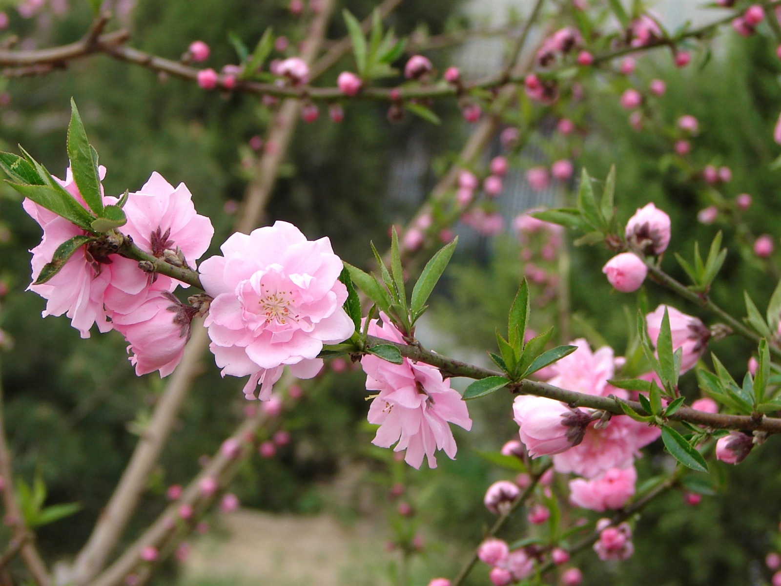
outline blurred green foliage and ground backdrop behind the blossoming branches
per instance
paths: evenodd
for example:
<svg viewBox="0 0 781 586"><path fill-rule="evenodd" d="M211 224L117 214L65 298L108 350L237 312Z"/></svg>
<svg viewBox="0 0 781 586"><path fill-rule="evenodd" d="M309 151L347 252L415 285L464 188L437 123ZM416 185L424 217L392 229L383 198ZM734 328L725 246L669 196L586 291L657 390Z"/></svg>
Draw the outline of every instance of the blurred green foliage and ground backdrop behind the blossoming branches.
<svg viewBox="0 0 781 586"><path fill-rule="evenodd" d="M10 17L0 39L12 32L25 48L75 41L91 20L86 0L50 0L28 18L20 15L17 4L0 0L0 10ZM277 56L294 54L301 27L288 4L119 0L114 26L130 29L131 46L169 59L178 59L191 41L200 39L212 48L209 64L219 68L237 60L229 31L253 46L272 25L291 45ZM659 2L657 9L665 25L674 29L687 19L707 21L712 11L701 9L701 4ZM367 0L340 2L358 18L374 5ZM529 5L406 0L387 23L400 35L414 33L421 39L465 27L506 25L517 30ZM327 38L345 33L337 17ZM437 70L455 63L469 79L497 70L505 45L501 38L478 39L426 55ZM620 219L654 202L672 217L671 249L685 258L691 257L696 241L707 247L716 232L724 230L730 252L713 298L737 316L744 313L743 289L751 291L755 301L766 302L781 273L773 257L755 259L751 245L758 234L776 239L781 235L781 177L771 166L779 154L772 127L781 109L781 63L772 41L762 35L742 38L725 30L715 45L718 50L712 54L694 47L695 59L685 69L672 65L669 52L654 52L637 59L631 76L584 76L579 80L580 99L565 99L544 111L529 105L526 109L532 113L525 112L525 106L508 113L507 124L519 128L524 146L512 154L505 189L495 203L505 230L487 237L464 224L456 227L461 241L430 302L420 332L424 345L487 362L485 351L494 349L494 327L504 323L519 280L530 273L520 255L522 245L512 233L512 219L526 209L571 197L567 182L535 191L526 182L526 170L558 159L572 159L576 176L586 166L598 178L615 163ZM351 57L344 58L322 84L333 85L337 73L353 68ZM647 93L654 78L665 80L667 92L648 99L644 123L651 131L638 131L619 105L619 95L630 86ZM153 170L171 184L186 183L199 213L210 216L216 227L209 254L217 252L230 233L235 202L241 200L258 156L251 138L263 135L270 116L250 95L205 92L191 82L159 77L105 56L82 59L41 77L0 77L0 93L5 96L0 105L3 150L15 151L21 144L62 176L73 96L107 167L106 193L137 190ZM473 129L453 101L434 106L443 120L439 126L410 116L389 123L385 109L357 101L345 106L342 123L321 114L315 123L300 124L265 223L288 220L308 238L327 235L343 259L368 267L369 241L380 250L387 248L388 228L408 222ZM686 158L673 149L676 120L684 114L696 116L700 127ZM576 134L564 138L555 131L562 118L576 124ZM500 152L497 139L485 163ZM708 164L729 167L731 180L718 189L704 184L698 173ZM754 203L736 216L729 202L740 193L750 194ZM698 222L697 213L709 205L716 205L719 215L712 223ZM65 318L41 320L44 300L25 292L30 277L27 251L39 238L39 228L23 213L15 193L0 187L0 327L12 340L2 363L7 426L20 477L28 483L41 478L47 502L80 504L76 514L41 527L39 534L49 559L67 559L74 544L86 540L116 485L164 381L156 374L135 377L116 332L80 340ZM620 356L637 311L635 296L608 292L601 274L608 251L567 245L565 254L571 267L569 310L558 318L561 306L555 291L551 293L550 283L541 283L533 288L534 295L547 303L535 309L534 327L555 324L559 334L585 337L594 348L612 345ZM685 279L674 259L665 259L665 268ZM653 285L647 285L645 295L651 309L672 302ZM697 314L695 308L675 305ZM711 325L708 316L700 316ZM752 349L733 338L711 346L736 378L743 376ZM241 417L243 381L223 380L216 367L205 366L150 479L128 540L166 506L166 488L197 473L201 456L213 453ZM255 456L237 477L232 490L241 509L210 517L209 531L190 541L187 559L168 563L153 583L398 584L402 567L409 584L452 575L493 522L482 504L488 484L512 477L479 452L498 451L517 434L510 417L512 397L497 393L470 403L475 423L469 434L455 430L458 459L451 462L443 456L437 470L415 471L396 461L390 450L370 444L373 428L366 423L364 385L361 371L344 361L326 366L316 380L307 382L301 402L278 422L277 429L291 435L290 443L280 445L273 457ZM699 395L693 374L684 377L682 386L686 394ZM669 466L658 446L647 452L640 478ZM762 560L778 547L779 458L781 447L769 441L746 466L726 470L715 465L715 490L699 506L686 506L682 491L654 502L637 523L635 556L610 565L585 552L578 561L584 583L764 584L768 576ZM403 487L401 495L394 486ZM508 530L510 541L522 538L526 529L519 520ZM478 568L469 581L486 583L487 567Z"/></svg>

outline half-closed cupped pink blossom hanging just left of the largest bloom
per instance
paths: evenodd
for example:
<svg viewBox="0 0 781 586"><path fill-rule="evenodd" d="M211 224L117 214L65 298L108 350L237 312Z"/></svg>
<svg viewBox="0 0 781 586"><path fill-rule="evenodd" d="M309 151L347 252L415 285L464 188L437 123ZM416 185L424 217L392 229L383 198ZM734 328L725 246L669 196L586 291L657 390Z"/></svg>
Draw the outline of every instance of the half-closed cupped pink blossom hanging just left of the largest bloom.
<svg viewBox="0 0 781 586"><path fill-rule="evenodd" d="M184 356L196 310L182 305L168 291L150 291L139 297L145 297L141 306L112 315L114 328L130 344L130 363L137 376L159 370L161 377L167 377Z"/></svg>

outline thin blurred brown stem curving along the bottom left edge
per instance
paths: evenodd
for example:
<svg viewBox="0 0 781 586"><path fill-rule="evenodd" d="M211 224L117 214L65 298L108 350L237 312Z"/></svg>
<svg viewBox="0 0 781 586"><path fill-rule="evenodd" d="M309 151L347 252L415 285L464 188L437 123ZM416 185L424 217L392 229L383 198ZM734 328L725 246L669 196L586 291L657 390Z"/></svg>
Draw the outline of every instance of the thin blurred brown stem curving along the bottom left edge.
<svg viewBox="0 0 781 586"><path fill-rule="evenodd" d="M5 487L2 489L2 502L5 506L5 514L10 520L10 526L13 530L14 539L19 544L20 554L24 565L30 572L38 586L48 586L51 584L51 578L48 575L46 565L41 559L41 554L33 542L33 534L24 522L24 516L20 509L19 502L16 501L16 490L13 481L13 467L11 463L11 450L8 447L8 441L5 435L5 408L3 406L2 394L2 371L0 371L0 476L5 481Z"/></svg>

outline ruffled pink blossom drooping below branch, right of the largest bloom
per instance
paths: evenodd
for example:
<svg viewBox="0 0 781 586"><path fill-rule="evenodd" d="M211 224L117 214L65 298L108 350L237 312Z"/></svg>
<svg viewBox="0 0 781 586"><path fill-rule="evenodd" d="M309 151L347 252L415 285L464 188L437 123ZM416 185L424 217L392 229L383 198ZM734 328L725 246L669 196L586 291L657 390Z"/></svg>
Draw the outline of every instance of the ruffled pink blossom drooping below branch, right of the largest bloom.
<svg viewBox="0 0 781 586"><path fill-rule="evenodd" d="M383 325L369 323L369 334L404 343L401 333L387 318ZM406 450L405 462L414 468L428 459L429 467L437 466L434 452L442 449L455 458L456 445L448 423L465 430L472 420L458 391L450 388L450 380L433 366L404 359L401 364L389 363L367 354L361 359L366 372L366 389L380 391L369 407L369 423L380 425L372 443L395 452Z"/></svg>

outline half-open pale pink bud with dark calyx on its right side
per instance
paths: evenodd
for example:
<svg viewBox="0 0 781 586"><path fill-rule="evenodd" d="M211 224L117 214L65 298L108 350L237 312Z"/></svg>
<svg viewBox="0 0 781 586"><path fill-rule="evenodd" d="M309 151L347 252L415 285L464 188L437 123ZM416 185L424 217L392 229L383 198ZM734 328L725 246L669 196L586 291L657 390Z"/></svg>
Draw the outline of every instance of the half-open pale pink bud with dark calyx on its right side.
<svg viewBox="0 0 781 586"><path fill-rule="evenodd" d="M562 402L533 395L519 395L512 405L523 445L533 458L569 450L583 441L590 416Z"/></svg>

